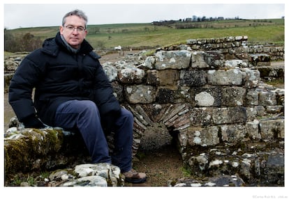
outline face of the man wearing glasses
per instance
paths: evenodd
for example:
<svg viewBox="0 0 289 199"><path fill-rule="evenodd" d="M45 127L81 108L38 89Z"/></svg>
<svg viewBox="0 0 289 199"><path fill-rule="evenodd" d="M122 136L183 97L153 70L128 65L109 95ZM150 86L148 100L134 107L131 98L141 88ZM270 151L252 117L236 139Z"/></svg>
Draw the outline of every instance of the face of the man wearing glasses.
<svg viewBox="0 0 289 199"><path fill-rule="evenodd" d="M59 28L60 34L71 47L77 49L87 35L84 19L75 15L66 17L66 23Z"/></svg>

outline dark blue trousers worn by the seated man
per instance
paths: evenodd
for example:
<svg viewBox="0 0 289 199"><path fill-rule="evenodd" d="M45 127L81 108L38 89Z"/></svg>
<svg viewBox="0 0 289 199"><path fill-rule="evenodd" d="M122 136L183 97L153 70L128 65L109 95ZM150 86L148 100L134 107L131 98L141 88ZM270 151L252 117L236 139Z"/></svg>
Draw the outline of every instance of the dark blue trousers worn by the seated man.
<svg viewBox="0 0 289 199"><path fill-rule="evenodd" d="M101 116L94 102L71 100L57 108L54 124L64 129L77 127L87 145L92 163L111 163L124 173L131 170L133 145L133 114L121 109L113 125L114 150L110 156L108 143L101 127Z"/></svg>

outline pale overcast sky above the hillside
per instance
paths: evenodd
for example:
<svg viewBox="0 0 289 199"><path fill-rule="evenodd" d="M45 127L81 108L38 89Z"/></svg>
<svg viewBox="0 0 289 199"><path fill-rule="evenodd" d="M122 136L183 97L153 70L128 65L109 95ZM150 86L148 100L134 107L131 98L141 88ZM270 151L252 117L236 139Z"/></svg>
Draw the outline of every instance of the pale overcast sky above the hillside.
<svg viewBox="0 0 289 199"><path fill-rule="evenodd" d="M85 0L84 0L85 1ZM186 3L186 1L165 1L170 3L156 4L151 1L135 1L144 3L111 3L108 4L82 3L59 4L50 3L12 3L10 0L3 3L3 26L6 29L36 26L60 26L62 17L71 10L78 8L88 16L88 24L119 24L119 23L149 23L160 20L184 19L192 17L239 17L242 19L273 19L285 16L285 3L220 3L214 1L206 4ZM25 1L27 2L27 1ZM80 2L80 1L78 1ZM242 1L244 2L244 1ZM245 1L246 2L246 1ZM21 4L22 3L22 4ZM241 3L241 2L240 2Z"/></svg>

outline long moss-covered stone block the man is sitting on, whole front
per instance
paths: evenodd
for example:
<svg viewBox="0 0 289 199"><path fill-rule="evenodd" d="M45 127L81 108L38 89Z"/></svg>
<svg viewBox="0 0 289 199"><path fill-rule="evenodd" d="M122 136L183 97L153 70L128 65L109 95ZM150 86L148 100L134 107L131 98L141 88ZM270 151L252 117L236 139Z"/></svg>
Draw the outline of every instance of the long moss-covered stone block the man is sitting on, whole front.
<svg viewBox="0 0 289 199"><path fill-rule="evenodd" d="M52 170L89 161L80 134L63 129L17 129L6 134L4 141L5 173L11 175L32 170Z"/></svg>

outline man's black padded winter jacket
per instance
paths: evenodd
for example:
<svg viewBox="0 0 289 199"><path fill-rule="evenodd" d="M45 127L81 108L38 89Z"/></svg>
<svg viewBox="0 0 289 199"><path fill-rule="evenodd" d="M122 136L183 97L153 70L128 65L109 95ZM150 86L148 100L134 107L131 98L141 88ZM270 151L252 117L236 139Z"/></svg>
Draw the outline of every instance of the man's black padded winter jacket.
<svg viewBox="0 0 289 199"><path fill-rule="evenodd" d="M10 81L9 102L20 122L36 115L54 126L59 104L68 100L91 100L101 116L114 115L120 106L112 92L98 56L84 40L73 54L57 33L43 42L43 47L23 59ZM31 93L35 88L34 102Z"/></svg>

